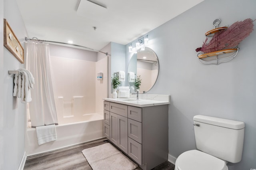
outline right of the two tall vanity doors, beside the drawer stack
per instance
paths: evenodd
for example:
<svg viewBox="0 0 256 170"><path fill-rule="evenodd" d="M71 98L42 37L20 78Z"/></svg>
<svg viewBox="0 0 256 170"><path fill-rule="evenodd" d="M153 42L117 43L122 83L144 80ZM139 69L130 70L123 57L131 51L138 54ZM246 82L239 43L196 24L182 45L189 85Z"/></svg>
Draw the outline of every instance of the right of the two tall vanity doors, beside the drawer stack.
<svg viewBox="0 0 256 170"><path fill-rule="evenodd" d="M128 153L128 118L118 115L118 148Z"/></svg>

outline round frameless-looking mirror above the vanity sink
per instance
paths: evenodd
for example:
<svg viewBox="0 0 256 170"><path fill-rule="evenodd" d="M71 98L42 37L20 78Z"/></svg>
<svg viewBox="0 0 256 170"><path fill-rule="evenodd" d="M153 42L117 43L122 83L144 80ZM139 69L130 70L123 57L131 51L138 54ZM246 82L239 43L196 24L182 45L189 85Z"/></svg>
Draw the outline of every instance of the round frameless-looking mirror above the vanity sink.
<svg viewBox="0 0 256 170"><path fill-rule="evenodd" d="M136 91L134 78L140 76L141 85L139 93L149 91L154 86L158 77L158 68L158 58L151 48L145 47L145 50L140 49L138 53L134 53L128 65L128 83L131 89Z"/></svg>

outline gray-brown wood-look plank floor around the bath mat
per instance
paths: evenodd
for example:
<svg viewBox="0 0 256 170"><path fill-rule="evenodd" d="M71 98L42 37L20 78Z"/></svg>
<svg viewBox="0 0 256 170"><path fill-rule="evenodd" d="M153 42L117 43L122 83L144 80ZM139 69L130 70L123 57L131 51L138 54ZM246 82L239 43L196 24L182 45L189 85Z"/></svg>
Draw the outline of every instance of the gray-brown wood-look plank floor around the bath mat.
<svg viewBox="0 0 256 170"><path fill-rule="evenodd" d="M106 138L86 142L51 152L28 156L24 170L92 170L82 150L107 143ZM122 167L120 167L120 170ZM141 168L136 168L141 170ZM154 170L174 170L174 165L164 162Z"/></svg>

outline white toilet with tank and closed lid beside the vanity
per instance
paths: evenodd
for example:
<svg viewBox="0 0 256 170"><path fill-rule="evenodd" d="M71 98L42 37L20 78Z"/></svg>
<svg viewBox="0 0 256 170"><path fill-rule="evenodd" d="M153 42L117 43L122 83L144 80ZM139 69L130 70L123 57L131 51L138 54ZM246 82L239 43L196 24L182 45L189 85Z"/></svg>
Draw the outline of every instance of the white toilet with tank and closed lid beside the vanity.
<svg viewBox="0 0 256 170"><path fill-rule="evenodd" d="M204 115L194 116L196 148L178 156L175 170L228 170L242 159L244 123Z"/></svg>

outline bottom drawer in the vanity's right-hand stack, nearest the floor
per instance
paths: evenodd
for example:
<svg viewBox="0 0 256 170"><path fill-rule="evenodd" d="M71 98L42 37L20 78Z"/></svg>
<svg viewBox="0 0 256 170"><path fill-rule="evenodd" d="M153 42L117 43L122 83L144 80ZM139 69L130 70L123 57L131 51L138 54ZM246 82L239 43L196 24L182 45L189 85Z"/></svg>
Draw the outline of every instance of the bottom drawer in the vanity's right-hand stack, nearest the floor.
<svg viewBox="0 0 256 170"><path fill-rule="evenodd" d="M142 165L142 144L128 138L128 155L139 165Z"/></svg>

